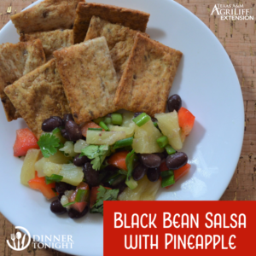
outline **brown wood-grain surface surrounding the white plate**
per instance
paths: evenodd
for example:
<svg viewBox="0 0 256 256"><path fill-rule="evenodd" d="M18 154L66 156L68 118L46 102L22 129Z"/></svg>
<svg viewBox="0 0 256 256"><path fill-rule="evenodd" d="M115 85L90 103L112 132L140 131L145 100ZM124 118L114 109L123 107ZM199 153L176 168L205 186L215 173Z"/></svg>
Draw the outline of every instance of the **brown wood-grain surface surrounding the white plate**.
<svg viewBox="0 0 256 256"><path fill-rule="evenodd" d="M31 3L33 3L32 0L0 0L0 28L9 21L10 15L20 12L21 9ZM236 69L245 108L245 133L236 172L221 200L254 201L256 200L255 1L177 0L177 3L181 3L186 9L189 9L211 29L219 42L223 44L228 55L230 55L230 60ZM244 8L250 9L250 15L254 15L254 20L220 20L219 16L211 15L215 3L243 4ZM236 140L236 137L234 137L234 140ZM9 239L10 234L14 232L15 227L0 213L0 256L67 255L51 249L34 249L32 246L22 252L15 252L6 244L6 239Z"/></svg>

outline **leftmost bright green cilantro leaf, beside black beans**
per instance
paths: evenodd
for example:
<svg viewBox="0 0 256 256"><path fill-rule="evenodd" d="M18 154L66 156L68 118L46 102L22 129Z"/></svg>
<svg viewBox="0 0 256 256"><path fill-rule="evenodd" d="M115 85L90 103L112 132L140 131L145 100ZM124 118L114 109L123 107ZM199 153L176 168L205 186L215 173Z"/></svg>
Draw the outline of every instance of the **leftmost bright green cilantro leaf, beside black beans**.
<svg viewBox="0 0 256 256"><path fill-rule="evenodd" d="M57 152L57 148L60 147L60 139L50 133L41 135L38 140L38 146L42 151L45 158L53 155Z"/></svg>

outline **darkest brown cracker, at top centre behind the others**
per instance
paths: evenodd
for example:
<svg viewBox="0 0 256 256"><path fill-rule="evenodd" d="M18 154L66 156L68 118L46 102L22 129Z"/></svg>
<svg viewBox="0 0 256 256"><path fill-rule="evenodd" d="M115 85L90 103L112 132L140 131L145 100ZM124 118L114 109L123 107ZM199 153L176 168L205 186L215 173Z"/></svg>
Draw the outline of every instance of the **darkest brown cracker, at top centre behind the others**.
<svg viewBox="0 0 256 256"><path fill-rule="evenodd" d="M141 32L146 31L149 19L149 14L134 9L120 8L102 3L79 3L73 26L75 44L84 41L92 16Z"/></svg>

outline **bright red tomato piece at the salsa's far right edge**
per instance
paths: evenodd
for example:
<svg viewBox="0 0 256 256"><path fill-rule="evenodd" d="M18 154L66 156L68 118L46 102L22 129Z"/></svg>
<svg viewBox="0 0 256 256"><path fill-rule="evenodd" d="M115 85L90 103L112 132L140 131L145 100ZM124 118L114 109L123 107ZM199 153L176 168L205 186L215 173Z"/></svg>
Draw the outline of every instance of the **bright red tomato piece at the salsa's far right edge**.
<svg viewBox="0 0 256 256"><path fill-rule="evenodd" d="M178 125L181 127L183 133L188 136L193 128L195 116L186 108L180 108L178 113Z"/></svg>

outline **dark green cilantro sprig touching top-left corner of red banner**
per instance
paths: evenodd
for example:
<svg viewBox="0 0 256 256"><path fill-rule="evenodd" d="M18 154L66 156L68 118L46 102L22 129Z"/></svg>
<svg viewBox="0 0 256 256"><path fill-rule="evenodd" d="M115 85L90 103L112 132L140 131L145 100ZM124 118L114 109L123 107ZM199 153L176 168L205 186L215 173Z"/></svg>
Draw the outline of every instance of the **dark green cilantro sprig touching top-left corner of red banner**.
<svg viewBox="0 0 256 256"><path fill-rule="evenodd" d="M105 189L100 186L98 188L96 204L90 209L91 213L103 214L103 201L117 201L119 189Z"/></svg>

